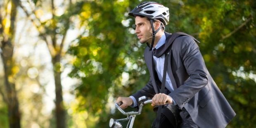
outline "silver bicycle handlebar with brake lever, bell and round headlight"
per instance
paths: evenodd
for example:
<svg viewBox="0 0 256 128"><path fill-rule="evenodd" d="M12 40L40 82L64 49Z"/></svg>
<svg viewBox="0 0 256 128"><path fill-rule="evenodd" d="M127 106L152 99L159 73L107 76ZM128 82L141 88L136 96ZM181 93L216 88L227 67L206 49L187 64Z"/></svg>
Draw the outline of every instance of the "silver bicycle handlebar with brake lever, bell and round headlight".
<svg viewBox="0 0 256 128"><path fill-rule="evenodd" d="M109 128L123 128L123 126L121 125L121 123L119 123L119 121L128 121L127 123L127 126L126 128L133 128L133 123L134 123L134 120L135 120L135 117L137 115L140 115L141 114L141 111L142 111L142 107L145 105L145 104L149 104L149 103L152 103L152 100L147 98L146 96L142 96L140 97L139 99L139 102L140 102L140 107L139 107L139 111L130 111L130 112L125 112L123 111L123 109L121 109L119 106L122 104L122 102L119 102L119 103L116 103L116 108L125 116L127 116L127 118L124 118L124 119L110 119L109 121Z"/></svg>

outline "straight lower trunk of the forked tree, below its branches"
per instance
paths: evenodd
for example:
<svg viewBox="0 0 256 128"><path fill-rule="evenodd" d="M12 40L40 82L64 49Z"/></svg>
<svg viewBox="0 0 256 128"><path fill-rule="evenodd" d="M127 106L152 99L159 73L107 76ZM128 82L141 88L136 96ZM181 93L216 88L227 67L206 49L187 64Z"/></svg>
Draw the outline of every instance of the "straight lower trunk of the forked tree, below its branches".
<svg viewBox="0 0 256 128"><path fill-rule="evenodd" d="M61 71L60 71L60 53L52 58L52 64L54 66L54 79L55 79L55 94L56 94L56 123L57 128L66 128L66 111L62 97L62 84L61 84Z"/></svg>

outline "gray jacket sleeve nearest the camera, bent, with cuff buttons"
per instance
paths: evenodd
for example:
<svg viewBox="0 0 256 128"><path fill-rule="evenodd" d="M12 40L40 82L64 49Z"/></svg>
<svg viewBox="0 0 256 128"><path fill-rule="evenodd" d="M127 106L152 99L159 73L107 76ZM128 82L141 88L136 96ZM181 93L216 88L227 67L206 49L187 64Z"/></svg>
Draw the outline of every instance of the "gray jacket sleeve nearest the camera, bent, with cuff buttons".
<svg viewBox="0 0 256 128"><path fill-rule="evenodd" d="M178 40L175 40L175 42L177 42L173 43L178 45L173 44L173 49L176 50L175 52L179 53L185 69L178 67L176 73L178 77L184 77L181 75L183 73L179 74L179 72L187 72L189 78L187 78L183 85L175 89L169 95L180 108L183 108L184 105L208 83L208 76L204 59L197 43L188 36L177 39Z"/></svg>

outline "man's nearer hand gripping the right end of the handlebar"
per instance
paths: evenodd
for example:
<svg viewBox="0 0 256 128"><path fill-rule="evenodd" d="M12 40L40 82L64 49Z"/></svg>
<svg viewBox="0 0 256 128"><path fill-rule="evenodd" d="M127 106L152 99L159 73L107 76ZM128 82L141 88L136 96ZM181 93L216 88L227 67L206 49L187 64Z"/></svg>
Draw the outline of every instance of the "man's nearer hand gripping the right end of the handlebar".
<svg viewBox="0 0 256 128"><path fill-rule="evenodd" d="M173 99L169 96L166 95L164 93L158 93L156 95L154 95L154 97L152 98L152 106L155 105L164 105L164 104L172 104L173 103Z"/></svg>

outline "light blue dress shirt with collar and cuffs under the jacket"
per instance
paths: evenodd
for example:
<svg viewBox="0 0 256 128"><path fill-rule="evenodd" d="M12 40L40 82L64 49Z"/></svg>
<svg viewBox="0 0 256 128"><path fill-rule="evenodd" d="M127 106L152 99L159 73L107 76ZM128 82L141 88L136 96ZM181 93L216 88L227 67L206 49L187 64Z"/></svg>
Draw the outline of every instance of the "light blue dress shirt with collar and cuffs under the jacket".
<svg viewBox="0 0 256 128"><path fill-rule="evenodd" d="M156 44L156 49L158 49L159 47L161 47L162 45L165 44L165 40L166 40L166 36L165 34L163 34L160 38L160 40L158 41L158 43ZM153 48L153 49L155 49ZM152 50L153 52L153 50ZM162 55L161 57L157 58L153 55L153 60L154 60L154 66L155 66L155 69L156 69L156 73L157 73L157 76L159 78L159 80L162 82L162 79L163 79L163 74L164 74L164 55ZM170 91L172 92L173 91L173 85L171 83L171 79L170 77L168 76L168 73L166 72L166 83L165 83L165 87ZM130 96L130 98L133 99L133 105L131 107L136 107L137 106L137 101L135 100L135 97L133 96ZM173 103L175 103L175 101L173 100Z"/></svg>

